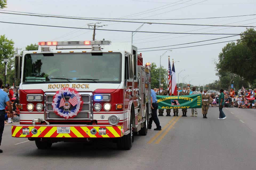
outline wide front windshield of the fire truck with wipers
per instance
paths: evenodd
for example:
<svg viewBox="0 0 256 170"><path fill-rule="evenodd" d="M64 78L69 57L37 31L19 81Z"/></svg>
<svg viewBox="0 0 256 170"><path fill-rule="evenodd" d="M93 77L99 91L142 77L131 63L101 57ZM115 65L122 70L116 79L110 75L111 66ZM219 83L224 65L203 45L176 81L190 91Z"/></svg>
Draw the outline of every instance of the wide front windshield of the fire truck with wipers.
<svg viewBox="0 0 256 170"><path fill-rule="evenodd" d="M122 54L98 54L26 54L23 67L23 82L120 83Z"/></svg>

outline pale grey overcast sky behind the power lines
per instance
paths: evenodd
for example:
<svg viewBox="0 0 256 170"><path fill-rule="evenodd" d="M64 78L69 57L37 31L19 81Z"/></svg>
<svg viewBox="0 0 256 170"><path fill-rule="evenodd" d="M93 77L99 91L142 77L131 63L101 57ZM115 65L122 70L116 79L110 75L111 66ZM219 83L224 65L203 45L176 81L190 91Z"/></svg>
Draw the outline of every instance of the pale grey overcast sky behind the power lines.
<svg viewBox="0 0 256 170"><path fill-rule="evenodd" d="M256 14L255 0L108 0L108 1L28 1L28 0L8 0L7 8L4 10L30 12L50 15L65 15L93 18L121 18L127 19L182 19L182 18L209 18L237 15ZM145 12L143 12L145 11ZM7 11L0 11L7 12ZM83 27L89 23L99 21L75 20L61 18L47 18L36 16L21 16L11 14L0 14L0 21L17 22L42 25L56 25L66 27ZM256 15L240 16L231 18L214 19L193 19L193 20L135 20L140 22L161 22L179 24L210 24L210 25L250 25L256 26ZM129 30L134 31L142 23L117 23L101 22L97 25L105 25L102 29ZM192 25L162 25L144 24L139 31L151 32L188 32L188 33L234 33L238 34L245 31L245 27L211 27L211 26L192 26ZM0 34L5 34L8 39L15 42L15 48L22 48L29 44L37 44L39 41L83 41L91 40L93 31L85 29L53 28L31 25L18 25L0 23ZM140 48L177 45L226 37L230 35L187 35L187 34L166 34L166 33L136 33L133 36L133 43ZM114 43L131 42L131 32L114 32L96 30L97 40L110 40ZM185 46L217 43L239 39L239 36L193 43L187 45L177 45L165 48L178 48ZM226 43L213 45L173 49L168 51L161 59L161 64L168 68L168 55L173 58L175 63L176 79L178 73L182 77L189 75L185 82L194 85L203 85L217 80L215 75L214 60L218 60L218 54ZM153 50L153 49L146 49ZM154 62L160 66L160 56L166 50L141 52L144 64ZM179 82L181 82L179 77Z"/></svg>

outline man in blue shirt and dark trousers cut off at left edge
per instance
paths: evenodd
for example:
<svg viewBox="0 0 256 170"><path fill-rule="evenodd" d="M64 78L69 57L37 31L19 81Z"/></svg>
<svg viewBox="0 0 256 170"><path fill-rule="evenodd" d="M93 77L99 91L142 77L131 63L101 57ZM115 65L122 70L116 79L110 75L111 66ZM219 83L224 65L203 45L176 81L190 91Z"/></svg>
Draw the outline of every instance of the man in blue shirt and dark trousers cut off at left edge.
<svg viewBox="0 0 256 170"><path fill-rule="evenodd" d="M0 79L0 87L3 82ZM11 109L11 104L9 101L9 96L3 90L0 90L0 146L2 141L3 128L5 127L5 105L7 105L9 112L11 113L11 118L13 118L13 110ZM0 149L0 153L3 151Z"/></svg>

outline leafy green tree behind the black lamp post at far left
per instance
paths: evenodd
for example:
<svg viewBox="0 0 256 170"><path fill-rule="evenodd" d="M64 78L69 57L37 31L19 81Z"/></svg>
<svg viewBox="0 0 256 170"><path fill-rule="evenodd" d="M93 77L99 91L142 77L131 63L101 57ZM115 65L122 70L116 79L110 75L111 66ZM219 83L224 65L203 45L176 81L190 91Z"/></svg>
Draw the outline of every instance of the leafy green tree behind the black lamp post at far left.
<svg viewBox="0 0 256 170"><path fill-rule="evenodd" d="M14 42L13 40L8 40L5 35L0 36L0 78L4 80L5 78L5 63L3 58L8 58L7 62L7 75L6 83L14 83Z"/></svg>

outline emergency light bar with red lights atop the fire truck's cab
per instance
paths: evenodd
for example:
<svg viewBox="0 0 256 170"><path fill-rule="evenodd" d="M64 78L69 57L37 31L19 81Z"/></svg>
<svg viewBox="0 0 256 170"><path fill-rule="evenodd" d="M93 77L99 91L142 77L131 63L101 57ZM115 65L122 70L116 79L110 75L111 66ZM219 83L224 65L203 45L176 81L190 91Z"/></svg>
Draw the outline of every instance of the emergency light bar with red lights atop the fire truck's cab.
<svg viewBox="0 0 256 170"><path fill-rule="evenodd" d="M39 42L40 46L50 46L50 45L110 45L111 41L47 41Z"/></svg>

